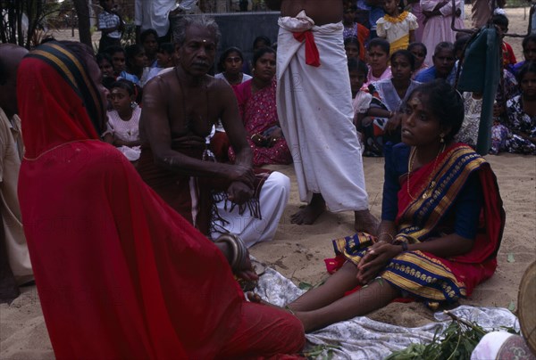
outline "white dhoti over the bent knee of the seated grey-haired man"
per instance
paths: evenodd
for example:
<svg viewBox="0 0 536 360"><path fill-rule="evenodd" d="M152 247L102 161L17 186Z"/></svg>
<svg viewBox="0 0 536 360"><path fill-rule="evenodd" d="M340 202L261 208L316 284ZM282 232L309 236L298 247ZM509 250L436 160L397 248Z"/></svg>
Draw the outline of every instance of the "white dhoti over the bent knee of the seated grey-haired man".
<svg viewBox="0 0 536 360"><path fill-rule="evenodd" d="M239 207L232 211L225 209L225 201L220 201L216 205L218 213L229 224L222 225L229 233L239 235L249 248L257 242L271 241L277 225L283 215L283 210L289 202L290 179L277 171L272 172L264 181L259 196L262 218L256 218L247 211L239 215ZM211 233L213 240L217 239L222 233Z"/></svg>

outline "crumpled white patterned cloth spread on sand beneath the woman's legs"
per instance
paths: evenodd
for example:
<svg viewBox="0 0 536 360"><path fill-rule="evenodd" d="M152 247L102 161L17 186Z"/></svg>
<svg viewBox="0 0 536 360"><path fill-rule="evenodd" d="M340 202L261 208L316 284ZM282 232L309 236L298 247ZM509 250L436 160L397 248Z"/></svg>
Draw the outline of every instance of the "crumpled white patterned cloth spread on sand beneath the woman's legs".
<svg viewBox="0 0 536 360"><path fill-rule="evenodd" d="M284 307L305 291L268 267L260 277L255 292L264 300ZM519 331L519 321L506 308L461 306L450 312L471 323L479 324L486 331L500 327L512 327L515 331ZM382 359L393 351L407 348L412 343L430 343L435 331L444 331L450 323L450 317L443 313L436 313L434 318L438 323L406 328L380 323L366 316L356 316L351 320L334 323L322 330L306 334L304 351L323 346L324 350L318 358Z"/></svg>

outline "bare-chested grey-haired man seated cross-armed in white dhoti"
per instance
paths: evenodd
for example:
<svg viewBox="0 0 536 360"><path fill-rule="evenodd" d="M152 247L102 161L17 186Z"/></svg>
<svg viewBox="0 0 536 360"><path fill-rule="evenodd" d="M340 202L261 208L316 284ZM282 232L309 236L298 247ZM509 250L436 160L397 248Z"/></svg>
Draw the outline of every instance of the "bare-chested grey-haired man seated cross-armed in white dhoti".
<svg viewBox="0 0 536 360"><path fill-rule="evenodd" d="M255 176L247 133L231 87L207 72L220 37L205 16L174 33L179 65L144 87L138 171L168 204L206 235L237 233L247 246L272 240L289 197L289 178ZM208 139L222 119L234 164L210 161Z"/></svg>

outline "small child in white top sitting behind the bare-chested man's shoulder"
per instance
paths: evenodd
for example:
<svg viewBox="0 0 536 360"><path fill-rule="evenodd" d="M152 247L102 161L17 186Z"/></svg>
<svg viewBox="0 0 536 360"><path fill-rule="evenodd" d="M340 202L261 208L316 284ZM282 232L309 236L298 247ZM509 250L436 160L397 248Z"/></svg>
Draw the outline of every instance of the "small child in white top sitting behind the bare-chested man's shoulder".
<svg viewBox="0 0 536 360"><path fill-rule="evenodd" d="M139 140L139 116L134 85L129 80L117 80L112 85L110 100L113 110L108 111L106 131L102 135L106 143L116 146L130 161L141 154Z"/></svg>

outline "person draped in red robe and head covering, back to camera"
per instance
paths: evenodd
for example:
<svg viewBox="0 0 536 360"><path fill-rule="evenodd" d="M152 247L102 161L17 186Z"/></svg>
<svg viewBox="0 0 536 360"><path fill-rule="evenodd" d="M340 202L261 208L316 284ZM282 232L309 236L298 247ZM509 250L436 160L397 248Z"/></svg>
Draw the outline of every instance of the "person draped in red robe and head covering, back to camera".
<svg viewBox="0 0 536 360"><path fill-rule="evenodd" d="M295 316L245 300L233 271L255 278L248 258L237 264L230 243L209 241L99 140L105 90L88 46L38 46L21 61L18 84L22 222L56 358L248 358L303 348Z"/></svg>

